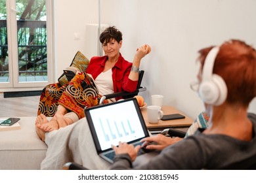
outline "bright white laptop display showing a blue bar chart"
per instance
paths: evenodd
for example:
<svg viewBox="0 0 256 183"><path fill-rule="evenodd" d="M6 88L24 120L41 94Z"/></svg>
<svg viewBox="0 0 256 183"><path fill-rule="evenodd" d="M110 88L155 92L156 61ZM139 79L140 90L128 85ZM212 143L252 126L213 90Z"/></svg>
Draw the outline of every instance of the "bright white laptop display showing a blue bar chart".
<svg viewBox="0 0 256 183"><path fill-rule="evenodd" d="M113 106L110 110L91 111L95 132L102 149L110 148L121 142L130 142L144 137L137 110L133 103L125 104L127 110ZM129 112L127 112L129 111Z"/></svg>

